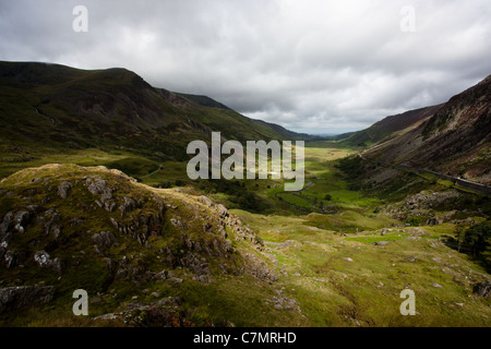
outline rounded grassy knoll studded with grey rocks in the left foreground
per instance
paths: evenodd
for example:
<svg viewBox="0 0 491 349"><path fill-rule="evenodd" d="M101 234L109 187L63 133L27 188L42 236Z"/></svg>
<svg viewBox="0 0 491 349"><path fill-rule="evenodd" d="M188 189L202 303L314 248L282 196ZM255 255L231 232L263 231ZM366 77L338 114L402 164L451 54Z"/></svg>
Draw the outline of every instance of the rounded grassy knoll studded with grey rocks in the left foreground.
<svg viewBox="0 0 491 349"><path fill-rule="evenodd" d="M205 196L73 165L24 169L0 195L1 287L55 287L49 305L0 314L1 324L304 324L298 312L260 315L276 272L255 233ZM89 294L89 321L71 312L75 289ZM98 323L107 313L117 315Z"/></svg>

